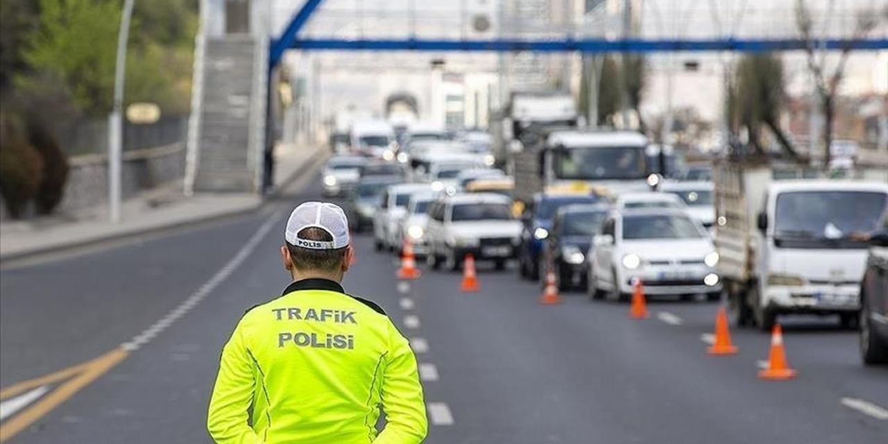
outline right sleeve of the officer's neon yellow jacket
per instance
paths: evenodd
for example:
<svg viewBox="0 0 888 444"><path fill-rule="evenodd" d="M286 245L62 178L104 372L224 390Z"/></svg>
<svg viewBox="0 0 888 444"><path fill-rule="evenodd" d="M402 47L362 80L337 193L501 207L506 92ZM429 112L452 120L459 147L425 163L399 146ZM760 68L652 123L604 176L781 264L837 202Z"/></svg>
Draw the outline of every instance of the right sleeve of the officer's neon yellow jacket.
<svg viewBox="0 0 888 444"><path fill-rule="evenodd" d="M373 444L418 444L428 432L428 420L416 356L407 339L391 322L389 330L391 345L385 358L382 385L386 424Z"/></svg>

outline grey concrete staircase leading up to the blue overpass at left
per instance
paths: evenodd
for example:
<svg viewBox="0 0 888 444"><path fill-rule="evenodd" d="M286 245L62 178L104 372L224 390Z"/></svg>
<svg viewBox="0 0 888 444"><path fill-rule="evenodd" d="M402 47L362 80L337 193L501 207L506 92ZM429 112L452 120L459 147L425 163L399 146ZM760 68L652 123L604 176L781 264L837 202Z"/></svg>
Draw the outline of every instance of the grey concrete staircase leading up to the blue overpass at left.
<svg viewBox="0 0 888 444"><path fill-rule="evenodd" d="M265 58L252 36L208 37L195 191L255 192L265 119Z"/></svg>

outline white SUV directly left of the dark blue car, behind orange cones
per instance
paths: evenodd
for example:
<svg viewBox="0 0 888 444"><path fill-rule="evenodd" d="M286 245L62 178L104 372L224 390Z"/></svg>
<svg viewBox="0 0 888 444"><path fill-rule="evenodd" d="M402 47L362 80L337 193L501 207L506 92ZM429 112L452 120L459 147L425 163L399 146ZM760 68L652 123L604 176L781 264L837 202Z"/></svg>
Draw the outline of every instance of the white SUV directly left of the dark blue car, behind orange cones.
<svg viewBox="0 0 888 444"><path fill-rule="evenodd" d="M521 223L511 216L511 199L501 194L456 194L432 204L429 210L426 261L432 268L444 264L460 269L466 255L493 260L497 270L518 252Z"/></svg>

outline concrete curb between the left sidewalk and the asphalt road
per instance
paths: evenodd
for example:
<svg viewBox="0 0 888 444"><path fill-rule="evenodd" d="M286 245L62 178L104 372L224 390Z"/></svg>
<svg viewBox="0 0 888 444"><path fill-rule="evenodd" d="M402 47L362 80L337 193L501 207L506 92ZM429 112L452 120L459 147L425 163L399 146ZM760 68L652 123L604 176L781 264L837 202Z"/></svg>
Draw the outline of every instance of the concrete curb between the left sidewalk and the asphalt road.
<svg viewBox="0 0 888 444"><path fill-rule="evenodd" d="M312 155L306 158L305 163L299 165L299 167L292 173L290 173L289 176L284 179L280 185L274 186L274 188L272 188L272 190L266 193L266 195L264 196L258 195L258 202L254 204L244 205L241 208L233 208L231 210L220 211L206 217L194 217L185 220L177 220L168 224L158 224L156 226L151 226L148 228L133 227L131 229L123 229L121 231L106 235L90 236L87 238L75 239L71 242L63 242L60 244L55 243L52 246L40 246L29 250L20 250L13 253L7 253L4 255L0 255L0 265L6 266L13 261L35 258L37 256L41 256L51 252L53 254L58 254L69 250L76 250L79 248L88 247L91 245L120 242L126 239L135 238L137 236L161 234L166 231L184 228L187 226L196 226L200 224L224 220L226 218L234 218L237 216L250 214L251 212L264 208L270 202L273 202L274 198L280 196L283 190L292 185L299 176L319 169L321 167L323 159L324 156L320 153L318 155Z"/></svg>

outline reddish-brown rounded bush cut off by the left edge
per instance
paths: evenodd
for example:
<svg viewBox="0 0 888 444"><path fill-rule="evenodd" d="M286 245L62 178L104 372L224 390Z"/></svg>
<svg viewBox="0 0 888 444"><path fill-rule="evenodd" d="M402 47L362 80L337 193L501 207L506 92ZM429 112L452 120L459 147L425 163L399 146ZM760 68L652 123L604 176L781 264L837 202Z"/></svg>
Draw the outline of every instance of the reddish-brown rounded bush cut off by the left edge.
<svg viewBox="0 0 888 444"><path fill-rule="evenodd" d="M44 162L11 116L0 115L0 194L12 218L24 215L43 181Z"/></svg>

